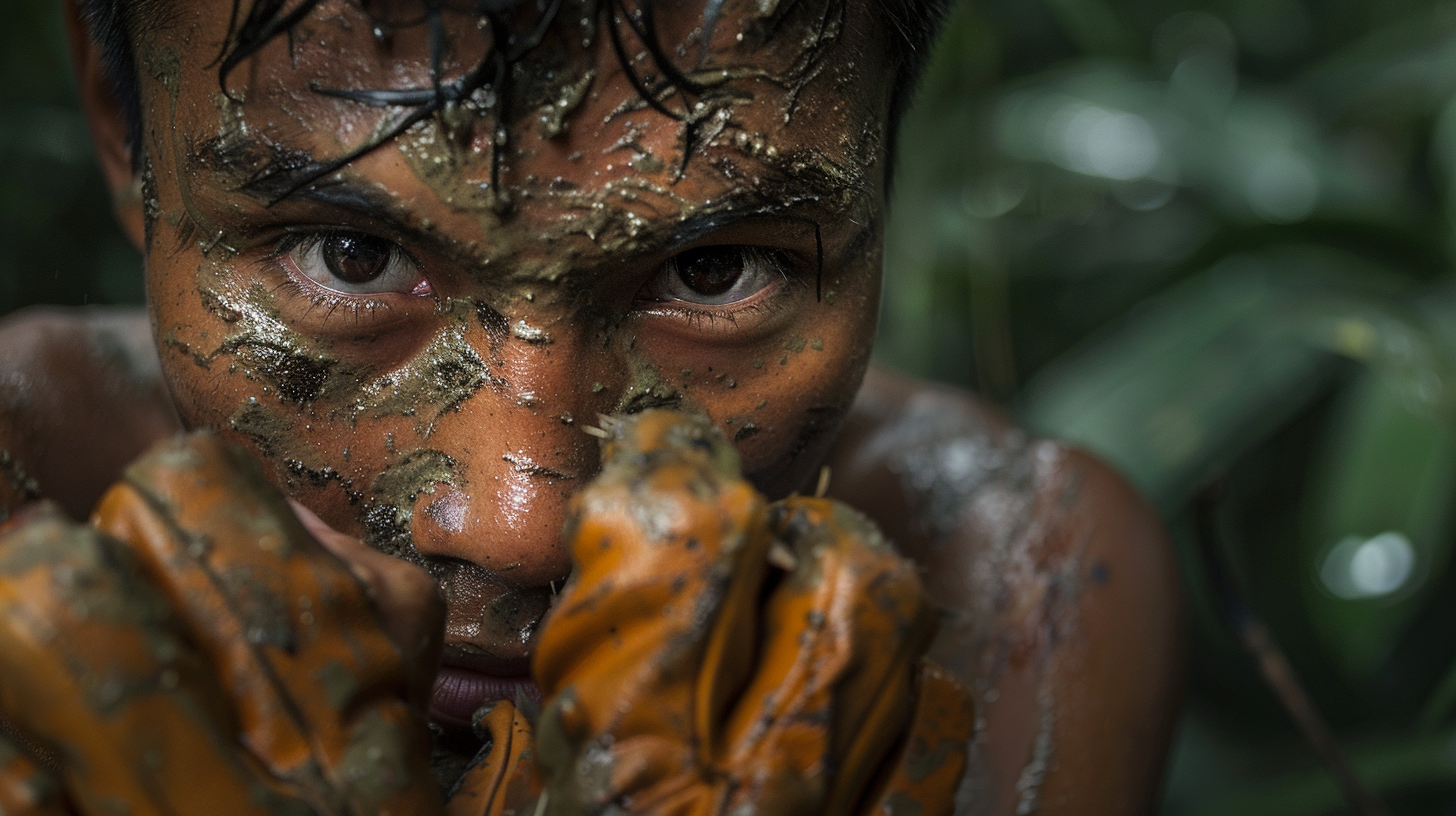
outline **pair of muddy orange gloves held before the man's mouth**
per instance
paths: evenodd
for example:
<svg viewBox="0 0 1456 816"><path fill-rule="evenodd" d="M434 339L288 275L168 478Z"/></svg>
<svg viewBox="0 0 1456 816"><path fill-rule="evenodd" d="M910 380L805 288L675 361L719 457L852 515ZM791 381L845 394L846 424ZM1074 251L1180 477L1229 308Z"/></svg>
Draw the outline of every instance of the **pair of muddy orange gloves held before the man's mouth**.
<svg viewBox="0 0 1456 816"><path fill-rule="evenodd" d="M842 504L766 503L705 420L610 431L534 657L547 705L483 713L448 803L365 587L242 453L173 440L92 527L13 519L0 813L948 816L974 710L922 660L914 567Z"/></svg>

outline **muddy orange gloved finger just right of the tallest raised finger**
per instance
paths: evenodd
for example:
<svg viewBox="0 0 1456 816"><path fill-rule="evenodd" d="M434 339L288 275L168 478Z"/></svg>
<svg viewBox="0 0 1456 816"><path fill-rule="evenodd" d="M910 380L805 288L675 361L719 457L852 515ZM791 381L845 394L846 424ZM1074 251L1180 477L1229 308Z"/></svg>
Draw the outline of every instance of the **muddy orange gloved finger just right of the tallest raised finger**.
<svg viewBox="0 0 1456 816"><path fill-rule="evenodd" d="M759 785L744 801L824 796L824 813L847 813L904 734L935 613L913 564L843 504L795 497L770 520L795 565L764 603L728 765Z"/></svg>

